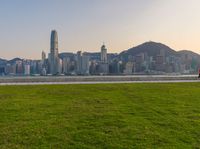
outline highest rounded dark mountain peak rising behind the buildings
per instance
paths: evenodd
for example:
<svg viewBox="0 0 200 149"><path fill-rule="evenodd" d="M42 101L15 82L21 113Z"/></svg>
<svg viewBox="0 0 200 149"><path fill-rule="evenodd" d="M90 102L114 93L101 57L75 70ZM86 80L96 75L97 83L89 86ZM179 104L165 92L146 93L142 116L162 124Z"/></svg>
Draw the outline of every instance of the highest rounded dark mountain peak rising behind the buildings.
<svg viewBox="0 0 200 149"><path fill-rule="evenodd" d="M157 42L145 42L139 46L130 48L126 51L123 51L119 54L119 56L123 60L127 60L129 55L136 56L140 53L147 53L149 56L155 57L156 55L160 54L161 52L165 53L165 56L174 55L177 56L177 52L170 47Z"/></svg>

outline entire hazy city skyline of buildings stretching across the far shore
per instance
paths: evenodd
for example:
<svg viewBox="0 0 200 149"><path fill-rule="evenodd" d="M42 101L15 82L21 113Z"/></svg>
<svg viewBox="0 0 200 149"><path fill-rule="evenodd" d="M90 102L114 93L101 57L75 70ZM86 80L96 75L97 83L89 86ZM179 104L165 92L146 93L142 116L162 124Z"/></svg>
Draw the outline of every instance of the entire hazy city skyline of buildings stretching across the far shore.
<svg viewBox="0 0 200 149"><path fill-rule="evenodd" d="M165 55L163 50L155 56L144 52L128 55L128 59L123 60L118 54L108 54L104 44L98 53L78 51L76 54L59 54L58 34L53 30L48 55L43 51L41 60L14 59L0 65L0 74L46 76L196 73L198 67L192 57Z"/></svg>

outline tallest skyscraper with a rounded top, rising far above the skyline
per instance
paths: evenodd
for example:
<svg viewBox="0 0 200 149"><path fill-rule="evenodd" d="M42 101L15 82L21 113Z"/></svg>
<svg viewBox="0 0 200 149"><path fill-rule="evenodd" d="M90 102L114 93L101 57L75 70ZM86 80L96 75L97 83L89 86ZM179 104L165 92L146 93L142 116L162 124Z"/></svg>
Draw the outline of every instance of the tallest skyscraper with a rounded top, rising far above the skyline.
<svg viewBox="0 0 200 149"><path fill-rule="evenodd" d="M50 73L52 75L59 74L59 57L58 57L58 33L56 30L51 32L51 43L50 43L50 54L49 54L49 65Z"/></svg>

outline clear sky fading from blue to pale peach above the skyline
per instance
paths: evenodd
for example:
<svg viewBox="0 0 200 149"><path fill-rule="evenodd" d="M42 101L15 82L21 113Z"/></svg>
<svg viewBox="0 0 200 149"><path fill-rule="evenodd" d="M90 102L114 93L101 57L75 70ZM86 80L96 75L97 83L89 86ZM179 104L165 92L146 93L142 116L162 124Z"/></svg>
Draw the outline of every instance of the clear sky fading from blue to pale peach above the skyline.
<svg viewBox="0 0 200 149"><path fill-rule="evenodd" d="M1 0L0 57L39 59L58 31L59 51L119 53L146 41L200 53L200 0Z"/></svg>

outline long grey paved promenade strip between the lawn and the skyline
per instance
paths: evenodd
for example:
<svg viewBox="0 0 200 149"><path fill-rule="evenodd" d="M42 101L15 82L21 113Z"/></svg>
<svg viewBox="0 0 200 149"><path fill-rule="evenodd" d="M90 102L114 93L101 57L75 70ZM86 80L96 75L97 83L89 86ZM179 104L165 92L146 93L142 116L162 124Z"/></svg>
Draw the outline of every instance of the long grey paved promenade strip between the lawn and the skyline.
<svg viewBox="0 0 200 149"><path fill-rule="evenodd" d="M0 85L200 82L196 75L0 77Z"/></svg>

